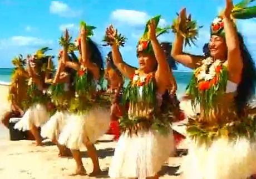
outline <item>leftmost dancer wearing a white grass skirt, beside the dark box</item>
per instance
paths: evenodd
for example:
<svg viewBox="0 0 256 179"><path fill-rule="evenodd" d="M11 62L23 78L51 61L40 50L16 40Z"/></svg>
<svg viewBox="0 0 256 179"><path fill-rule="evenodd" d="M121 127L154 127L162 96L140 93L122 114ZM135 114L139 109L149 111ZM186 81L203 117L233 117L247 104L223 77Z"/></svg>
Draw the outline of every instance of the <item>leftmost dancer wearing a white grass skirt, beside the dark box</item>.
<svg viewBox="0 0 256 179"><path fill-rule="evenodd" d="M42 48L33 56L27 57L27 69L29 74L28 100L24 103L27 105L27 111L14 126L14 129L18 130L30 130L36 139L37 146L42 145L42 138L38 127L45 124L49 119L47 103L50 102L50 99L47 95L43 94L43 89L46 88L43 66L47 64L48 56L45 55L47 50L50 49L47 47Z"/></svg>

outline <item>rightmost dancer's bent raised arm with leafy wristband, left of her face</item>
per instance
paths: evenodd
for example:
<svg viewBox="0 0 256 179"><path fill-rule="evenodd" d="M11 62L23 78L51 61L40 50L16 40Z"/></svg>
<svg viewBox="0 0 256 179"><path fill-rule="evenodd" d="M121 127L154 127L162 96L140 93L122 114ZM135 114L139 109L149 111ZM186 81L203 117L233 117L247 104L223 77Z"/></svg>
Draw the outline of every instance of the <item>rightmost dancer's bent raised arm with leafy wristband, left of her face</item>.
<svg viewBox="0 0 256 179"><path fill-rule="evenodd" d="M186 21L186 9L183 8L179 14L179 24L185 24ZM173 42L173 48L171 49L171 56L179 63L185 65L189 68L196 68L196 63L198 63L203 57L185 54L183 52L183 42L184 38L181 34L176 33Z"/></svg>

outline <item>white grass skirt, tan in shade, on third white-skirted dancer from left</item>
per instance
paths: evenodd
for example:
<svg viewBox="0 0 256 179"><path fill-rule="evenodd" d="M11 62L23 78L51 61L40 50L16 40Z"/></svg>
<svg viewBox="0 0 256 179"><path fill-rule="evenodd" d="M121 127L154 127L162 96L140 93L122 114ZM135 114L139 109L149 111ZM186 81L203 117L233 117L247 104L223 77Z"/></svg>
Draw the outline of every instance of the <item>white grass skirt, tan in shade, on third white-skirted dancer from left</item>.
<svg viewBox="0 0 256 179"><path fill-rule="evenodd" d="M85 137L94 143L104 135L110 126L110 110L97 108L87 114L71 114L63 128L58 142L68 149L78 150L83 147Z"/></svg>

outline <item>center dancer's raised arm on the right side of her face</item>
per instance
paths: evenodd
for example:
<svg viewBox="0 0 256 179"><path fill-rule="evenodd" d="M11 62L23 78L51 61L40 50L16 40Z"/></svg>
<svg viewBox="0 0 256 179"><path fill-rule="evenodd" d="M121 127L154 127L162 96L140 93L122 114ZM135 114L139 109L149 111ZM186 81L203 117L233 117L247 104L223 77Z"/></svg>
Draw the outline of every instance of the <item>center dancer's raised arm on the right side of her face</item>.
<svg viewBox="0 0 256 179"><path fill-rule="evenodd" d="M148 25L149 28L149 37L151 40L152 48L155 53L156 61L157 61L157 69L155 73L156 83L163 86L169 85L169 78L172 75L168 61L166 60L166 56L164 50L161 48L157 38L156 38L156 25L155 21L150 22ZM164 89L165 90L165 89Z"/></svg>

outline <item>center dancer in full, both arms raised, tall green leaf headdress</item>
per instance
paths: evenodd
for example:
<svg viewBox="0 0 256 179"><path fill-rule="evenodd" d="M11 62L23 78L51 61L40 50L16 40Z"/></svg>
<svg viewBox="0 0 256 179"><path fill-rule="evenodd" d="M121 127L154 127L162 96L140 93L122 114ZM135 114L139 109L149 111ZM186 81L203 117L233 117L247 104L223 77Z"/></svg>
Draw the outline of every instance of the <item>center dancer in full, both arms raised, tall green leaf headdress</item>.
<svg viewBox="0 0 256 179"><path fill-rule="evenodd" d="M139 41L139 69L122 60L121 35L112 25L106 30L114 64L131 80L123 95L123 103L129 102L129 110L119 120L121 136L109 169L111 178L158 178L161 166L175 151L170 111L168 106L161 105L171 72L156 39L161 34L156 32L159 20L157 16L147 22L145 34Z"/></svg>

